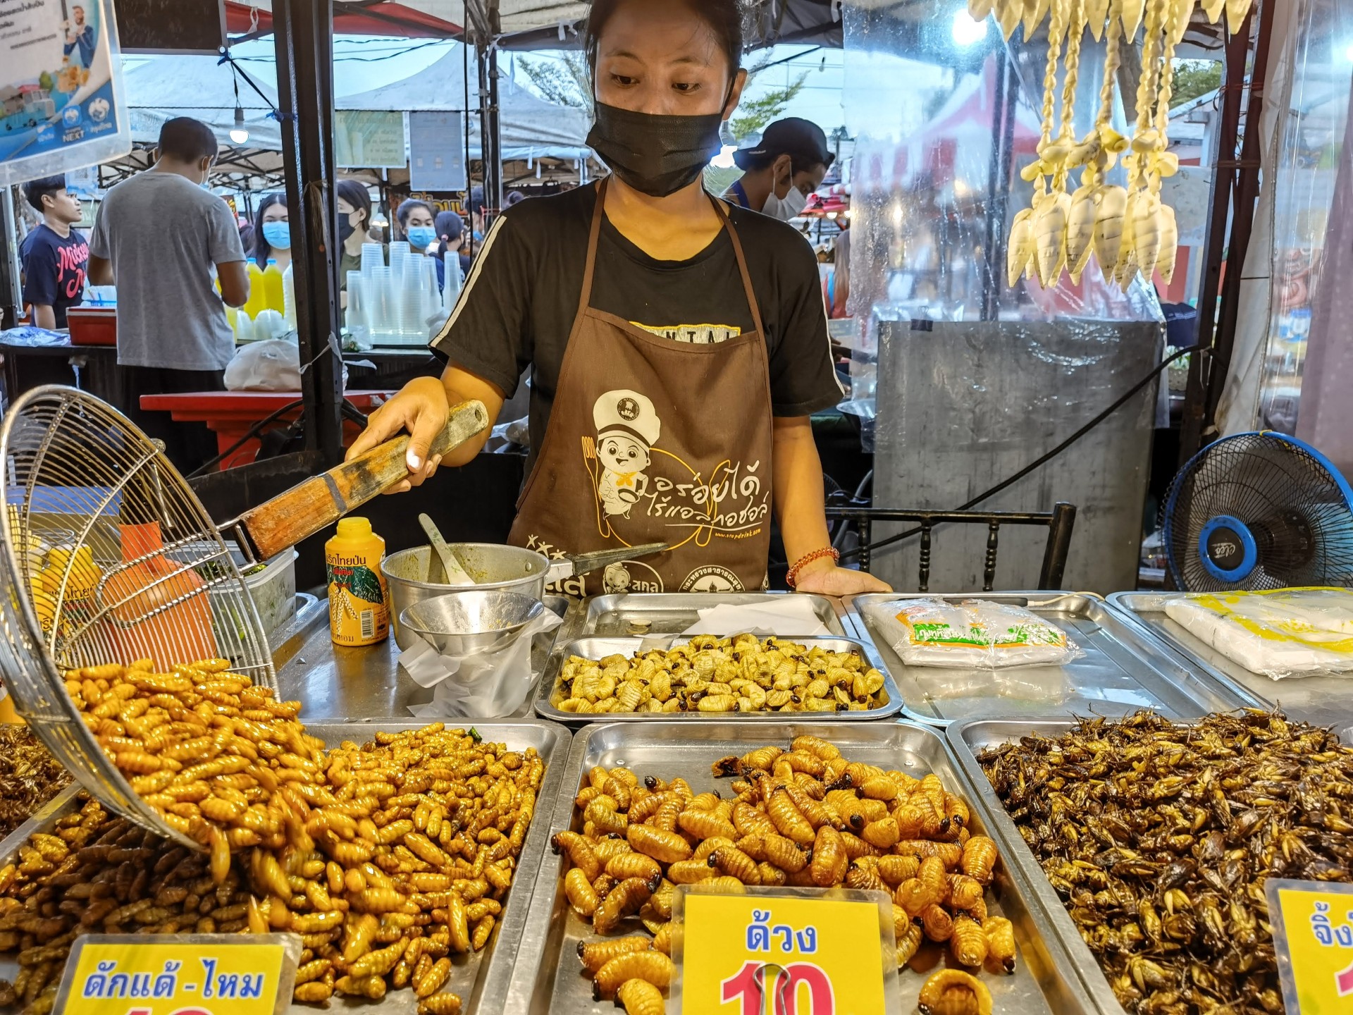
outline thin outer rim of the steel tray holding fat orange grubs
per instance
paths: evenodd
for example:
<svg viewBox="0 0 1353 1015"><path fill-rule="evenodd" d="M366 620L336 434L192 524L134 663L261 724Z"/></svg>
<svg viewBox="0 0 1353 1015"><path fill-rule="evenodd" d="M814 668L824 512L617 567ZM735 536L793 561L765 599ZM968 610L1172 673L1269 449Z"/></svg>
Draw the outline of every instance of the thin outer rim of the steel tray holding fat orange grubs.
<svg viewBox="0 0 1353 1015"><path fill-rule="evenodd" d="M771 729L764 728L764 725L758 725L755 728L746 727L747 735L755 735L756 739L774 735L778 739L787 742L794 736L798 736L800 734L815 734L819 736L835 738L833 742L842 742L840 746L846 746L846 743L848 743L848 738L851 736L884 738L888 735L896 735L894 731L912 731L915 734L921 735L923 738L938 742L940 752L943 754L943 757L946 758L953 770L957 789L961 793L966 794L970 807L977 813L984 827L988 830L988 834L992 834L992 819L994 817L994 815L989 812L990 809L988 804L978 797L976 788L970 785L970 775L967 771L965 771L963 766L959 763L959 757L954 750L953 744L944 736L944 731L936 729L935 727L925 725L921 723L908 723L901 720L893 723L873 723L870 725L840 727L840 725L829 725L827 723L823 723L821 720L815 721L804 719L786 719L785 716L775 716L774 719L777 721L773 721L770 724ZM741 723L729 721L725 719L721 721L720 720L708 721L706 725L736 728L740 727ZM674 728L672 732L678 734L685 727L686 724L681 724L676 728ZM779 727L778 734L774 734L775 727ZM633 736L641 731L643 735L649 738L659 738L660 734L663 732L660 729L651 729L647 727L636 728L626 723L616 723L616 721L590 723L574 735L567 762L570 778L575 775L578 778L582 777L582 774L586 771L583 767L583 762L587 758L587 752L591 750L591 743L594 738L609 729L614 729L617 734L629 736ZM553 813L551 816L549 827L552 830L567 828L572 823L574 794L570 792L570 785L571 785L570 782L566 782L561 785L559 790L557 801ZM1004 816L1004 813L1005 813L1004 808L1001 808L1000 815ZM1003 849L1001 853L1004 857L1005 850ZM1032 890L1032 885L1028 884L1028 880L1022 869L1011 863L1004 865L1004 869L1007 876L1011 878L1015 892L1020 896L1024 908L1028 911L1028 916L1034 922L1038 935L1045 942L1049 951L1049 958L1053 960L1054 965L1057 965L1058 968L1062 966L1062 962L1074 965L1076 964L1074 957L1069 951L1066 951L1061 935L1055 932L1057 928L1054 926L1054 919L1053 919L1055 914L1046 912L1046 907ZM530 930L541 927L545 930L545 932L538 935L538 946L536 945L536 942L533 942L530 946L526 946L526 950L518 950L517 966L520 966L522 974L517 976L514 969L513 988L507 995L507 1008L506 1008L506 1011L510 1012L518 1012L518 1011L526 1012L530 1010L532 992L534 988L534 972L540 968L541 962L545 958L548 927L556 903L556 889L557 889L557 886L555 885L557 874L553 876L547 874L548 870L549 870L549 863L545 862L543 858L543 862L536 873L534 884L532 886L532 904L530 904L530 914L528 915ZM1042 877L1042 872L1039 872L1039 876ZM1058 908L1061 907L1058 905ZM1066 976L1065 981L1068 989L1074 995L1074 1001L1081 1007L1081 1011L1084 1011L1086 1015L1091 1015L1091 1012L1096 1011L1096 1006L1093 1004L1093 999L1091 997L1088 988L1084 984L1084 976L1080 973L1080 970L1077 970L1076 976ZM1043 997L1045 1000L1047 1000L1047 995L1043 995ZM1049 1007L1051 1008L1051 1004L1049 1004ZM1057 1012L1057 1015L1076 1015L1076 1011L1074 1010L1061 1011ZM1112 1015L1122 1015L1122 1012L1112 1012Z"/></svg>

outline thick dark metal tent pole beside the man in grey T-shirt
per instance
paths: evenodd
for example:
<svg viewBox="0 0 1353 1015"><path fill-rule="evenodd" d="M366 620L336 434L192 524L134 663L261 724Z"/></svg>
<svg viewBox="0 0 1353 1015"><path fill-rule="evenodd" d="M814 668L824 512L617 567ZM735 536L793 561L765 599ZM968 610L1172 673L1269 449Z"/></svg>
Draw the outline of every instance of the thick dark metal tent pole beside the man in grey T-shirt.
<svg viewBox="0 0 1353 1015"><path fill-rule="evenodd" d="M331 242L338 234L333 191L333 0L273 0L272 18L306 448L336 463L342 459L342 346L338 265Z"/></svg>

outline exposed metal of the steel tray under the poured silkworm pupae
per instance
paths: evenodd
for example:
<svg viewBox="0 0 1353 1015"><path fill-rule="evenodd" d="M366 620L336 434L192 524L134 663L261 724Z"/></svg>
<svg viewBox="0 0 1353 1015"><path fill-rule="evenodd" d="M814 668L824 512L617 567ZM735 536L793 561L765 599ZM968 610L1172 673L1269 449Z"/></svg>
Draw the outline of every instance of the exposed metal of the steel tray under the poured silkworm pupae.
<svg viewBox="0 0 1353 1015"><path fill-rule="evenodd" d="M400 732L405 729L422 729L428 725L423 721L383 721L383 723L337 723L307 725L306 731L321 738L325 744L334 747L342 740L365 743L377 732ZM448 720L451 725L451 720ZM530 890L536 881L540 862L545 855L551 835L549 816L559 804L559 788L564 778L568 754L568 731L553 723L538 720L484 720L465 723L474 725L486 740L506 743L511 748L534 747L545 762L545 778L540 786L540 797L536 805L536 817L526 832L526 842L522 844L513 888L507 893L503 904L502 922L494 931L488 946L472 955L456 957L452 966L451 980L446 989L453 991L464 1000L465 1012L486 1012L501 1015L507 991L511 985L513 964L517 958L517 949L522 941L526 927ZM27 842L35 831L50 831L57 819L68 813L74 807L78 785L62 790L51 803L22 827L11 832L4 842L0 842L0 866L11 862L19 847ZM575 790L570 790L568 803L572 804ZM19 972L15 961L16 953L7 953L0 957L0 977L14 981ZM391 991L380 1001L365 999L334 997L330 1001L330 1011L379 1011L382 1015L413 1015L418 1007L418 999L411 989ZM317 1008L307 1004L292 1004L287 1010L290 1015L314 1015Z"/></svg>

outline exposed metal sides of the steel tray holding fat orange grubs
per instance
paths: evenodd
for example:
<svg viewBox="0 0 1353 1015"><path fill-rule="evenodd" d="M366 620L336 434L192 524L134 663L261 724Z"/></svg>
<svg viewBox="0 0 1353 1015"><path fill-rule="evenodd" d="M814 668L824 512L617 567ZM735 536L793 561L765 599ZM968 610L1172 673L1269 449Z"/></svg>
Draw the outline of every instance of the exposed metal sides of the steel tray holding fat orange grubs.
<svg viewBox="0 0 1353 1015"><path fill-rule="evenodd" d="M681 775L701 793L716 788L727 789L728 780L716 780L710 774L710 765L718 758L743 754L762 744L787 744L801 734L829 739L852 761L919 773L934 771L946 786L971 796L942 736L907 723L825 725L781 720L755 729L741 723L662 723L643 727L607 723L589 725L574 738L551 830L580 827L574 820L572 796L594 765L624 765L640 777ZM973 821L974 831L985 827L980 807L973 808ZM517 951L517 968L507 995L506 1010L513 1015L613 1011L609 1003L593 1003L591 981L578 962L578 942L593 939L594 935L564 897L566 862L564 857L547 855L540 867L526 937ZM1072 972L1070 961L1057 945L1046 915L1028 904L1028 886L1009 867L1003 866L999 869L994 890L999 901L992 912L1004 914L1015 923L1020 951L1013 976L981 974L996 1001L994 1011L1001 1015L1077 1015L1093 1011L1089 996ZM934 946L927 949L934 953ZM934 954L928 957L935 958ZM915 1011L923 981L923 974L912 969L902 970L902 1012Z"/></svg>

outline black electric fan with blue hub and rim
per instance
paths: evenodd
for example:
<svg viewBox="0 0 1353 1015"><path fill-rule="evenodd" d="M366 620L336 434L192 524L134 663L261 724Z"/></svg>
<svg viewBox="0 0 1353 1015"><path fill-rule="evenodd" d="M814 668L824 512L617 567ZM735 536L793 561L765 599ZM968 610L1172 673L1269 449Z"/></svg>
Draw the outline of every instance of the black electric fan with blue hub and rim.
<svg viewBox="0 0 1353 1015"><path fill-rule="evenodd" d="M1353 487L1295 437L1223 437L1189 459L1165 502L1162 536L1185 591L1353 581Z"/></svg>

